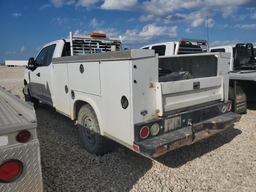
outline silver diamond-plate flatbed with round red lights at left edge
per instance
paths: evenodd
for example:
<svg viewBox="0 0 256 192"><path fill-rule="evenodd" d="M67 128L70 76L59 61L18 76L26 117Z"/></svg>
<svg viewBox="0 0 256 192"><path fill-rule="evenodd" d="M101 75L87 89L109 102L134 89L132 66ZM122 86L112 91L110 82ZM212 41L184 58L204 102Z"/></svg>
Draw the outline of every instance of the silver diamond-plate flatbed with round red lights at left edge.
<svg viewBox="0 0 256 192"><path fill-rule="evenodd" d="M0 191L42 192L40 146L32 105L0 87Z"/></svg>

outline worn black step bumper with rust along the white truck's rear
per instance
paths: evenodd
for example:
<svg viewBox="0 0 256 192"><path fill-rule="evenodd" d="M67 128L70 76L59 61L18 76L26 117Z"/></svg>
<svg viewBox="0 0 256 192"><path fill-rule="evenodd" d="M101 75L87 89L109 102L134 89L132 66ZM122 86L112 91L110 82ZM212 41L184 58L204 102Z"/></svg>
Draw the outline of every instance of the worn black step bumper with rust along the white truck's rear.
<svg viewBox="0 0 256 192"><path fill-rule="evenodd" d="M238 122L240 118L241 115L228 112L193 126L186 126L148 140L134 142L134 144L138 146L140 154L146 157L157 157L181 146L190 145L222 132L233 123Z"/></svg>

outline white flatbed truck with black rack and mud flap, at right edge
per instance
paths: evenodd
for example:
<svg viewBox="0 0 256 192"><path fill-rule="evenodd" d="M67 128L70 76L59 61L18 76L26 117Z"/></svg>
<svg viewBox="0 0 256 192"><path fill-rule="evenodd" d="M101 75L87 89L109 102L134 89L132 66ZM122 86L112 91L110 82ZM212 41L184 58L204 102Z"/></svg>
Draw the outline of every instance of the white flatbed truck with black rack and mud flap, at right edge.
<svg viewBox="0 0 256 192"><path fill-rule="evenodd" d="M233 112L246 112L247 102L256 102L256 60L253 45L239 43L218 46L210 48L210 52L231 54L229 100L233 101Z"/></svg>

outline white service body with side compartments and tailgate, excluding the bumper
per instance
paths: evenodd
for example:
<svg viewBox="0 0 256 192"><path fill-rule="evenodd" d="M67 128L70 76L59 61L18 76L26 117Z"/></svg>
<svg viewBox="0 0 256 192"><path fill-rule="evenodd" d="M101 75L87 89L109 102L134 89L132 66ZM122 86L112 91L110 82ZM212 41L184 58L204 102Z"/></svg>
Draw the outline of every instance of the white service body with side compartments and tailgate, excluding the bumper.
<svg viewBox="0 0 256 192"><path fill-rule="evenodd" d="M53 59L58 92L56 110L74 119L76 102L88 102L96 112L101 134L122 144L132 146L134 124L156 118L158 106L162 111L157 115L162 116L166 111L183 106L227 100L228 53L209 54L218 58L217 76L166 83L158 83L158 55L154 50L124 50L107 55L111 57L101 58L102 53ZM63 77L58 79L61 75ZM193 82L198 81L200 89L193 89ZM67 94L65 86L68 86ZM224 87L227 90L224 91ZM71 91L74 91L74 99ZM129 102L126 109L120 104L122 96Z"/></svg>

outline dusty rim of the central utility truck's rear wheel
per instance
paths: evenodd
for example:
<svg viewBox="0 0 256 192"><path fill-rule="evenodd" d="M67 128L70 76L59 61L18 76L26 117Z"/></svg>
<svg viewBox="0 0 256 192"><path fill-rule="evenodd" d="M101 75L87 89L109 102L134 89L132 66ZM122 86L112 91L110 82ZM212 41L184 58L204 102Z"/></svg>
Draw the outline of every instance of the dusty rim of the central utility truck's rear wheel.
<svg viewBox="0 0 256 192"><path fill-rule="evenodd" d="M83 134L85 142L88 146L93 147L96 143L95 136L95 125L90 116L84 116L82 119L82 125L84 126Z"/></svg>

